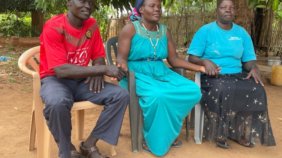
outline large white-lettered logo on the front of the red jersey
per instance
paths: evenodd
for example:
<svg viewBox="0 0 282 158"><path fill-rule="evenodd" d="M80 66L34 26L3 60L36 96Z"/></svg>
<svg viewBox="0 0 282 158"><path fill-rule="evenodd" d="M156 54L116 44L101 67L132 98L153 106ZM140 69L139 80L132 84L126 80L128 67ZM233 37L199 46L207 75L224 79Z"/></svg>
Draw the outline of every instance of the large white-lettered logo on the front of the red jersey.
<svg viewBox="0 0 282 158"><path fill-rule="evenodd" d="M67 61L69 64L83 65L86 64L88 48L78 49L75 52L67 53Z"/></svg>

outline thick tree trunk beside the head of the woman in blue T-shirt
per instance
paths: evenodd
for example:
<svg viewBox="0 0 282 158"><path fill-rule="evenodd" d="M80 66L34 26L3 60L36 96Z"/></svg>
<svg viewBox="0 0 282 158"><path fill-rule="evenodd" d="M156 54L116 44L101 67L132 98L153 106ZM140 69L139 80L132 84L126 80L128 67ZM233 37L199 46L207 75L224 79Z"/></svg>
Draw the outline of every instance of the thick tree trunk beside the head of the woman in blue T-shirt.
<svg viewBox="0 0 282 158"><path fill-rule="evenodd" d="M253 9L249 9L249 4L247 1L235 0L236 3L236 16L234 18L234 23L242 26L246 31L251 34L254 13Z"/></svg>

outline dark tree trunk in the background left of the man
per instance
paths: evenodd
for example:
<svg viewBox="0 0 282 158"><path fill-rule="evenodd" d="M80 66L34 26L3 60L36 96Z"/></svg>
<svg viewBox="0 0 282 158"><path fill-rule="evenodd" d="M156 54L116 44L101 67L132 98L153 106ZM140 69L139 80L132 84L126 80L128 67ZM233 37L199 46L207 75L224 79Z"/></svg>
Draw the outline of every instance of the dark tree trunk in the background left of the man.
<svg viewBox="0 0 282 158"><path fill-rule="evenodd" d="M33 10L31 12L32 37L38 37L42 33L43 25L44 25L44 13Z"/></svg>

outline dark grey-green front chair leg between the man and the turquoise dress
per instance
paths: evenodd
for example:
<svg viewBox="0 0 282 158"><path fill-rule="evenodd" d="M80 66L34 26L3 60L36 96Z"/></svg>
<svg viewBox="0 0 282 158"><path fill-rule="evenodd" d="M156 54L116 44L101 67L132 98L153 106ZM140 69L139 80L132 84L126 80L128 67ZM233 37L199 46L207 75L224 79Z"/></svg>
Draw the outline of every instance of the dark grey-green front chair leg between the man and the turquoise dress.
<svg viewBox="0 0 282 158"><path fill-rule="evenodd" d="M130 133L131 133L131 146L134 154L141 153L142 143L142 129L143 129L143 114L138 100L129 101L129 121L130 121Z"/></svg>

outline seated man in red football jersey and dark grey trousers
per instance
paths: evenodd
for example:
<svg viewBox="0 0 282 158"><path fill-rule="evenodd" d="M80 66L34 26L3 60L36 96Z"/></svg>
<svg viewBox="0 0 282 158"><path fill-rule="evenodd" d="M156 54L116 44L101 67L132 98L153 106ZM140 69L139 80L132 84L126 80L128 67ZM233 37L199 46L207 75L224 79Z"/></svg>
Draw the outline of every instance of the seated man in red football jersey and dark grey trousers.
<svg viewBox="0 0 282 158"><path fill-rule="evenodd" d="M43 115L58 147L59 157L102 157L99 139L117 145L128 91L104 82L103 75L119 81L126 70L105 65L105 50L95 19L90 17L94 0L67 0L67 14L48 20L40 35L40 95L45 103ZM87 67L90 59L92 65ZM100 117L79 153L71 143L71 109L74 102L88 100L105 105Z"/></svg>

